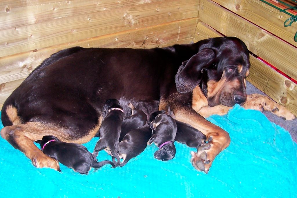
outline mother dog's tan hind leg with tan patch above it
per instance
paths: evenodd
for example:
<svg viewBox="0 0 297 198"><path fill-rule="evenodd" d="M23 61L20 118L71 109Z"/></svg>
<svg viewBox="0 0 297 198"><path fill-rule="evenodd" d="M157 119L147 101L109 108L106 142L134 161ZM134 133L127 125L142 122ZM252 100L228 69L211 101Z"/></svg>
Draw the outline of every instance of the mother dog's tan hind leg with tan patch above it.
<svg viewBox="0 0 297 198"><path fill-rule="evenodd" d="M17 115L14 107L7 109L7 112L8 111L15 111L10 112L10 115ZM9 118L11 119L12 117ZM13 123L15 123L15 120L17 120L17 118L11 119ZM86 136L75 140L67 135L68 133L66 129L39 122L27 122L25 124L6 126L0 133L1 137L7 140L14 148L23 152L32 161L32 164L35 167L49 167L55 170L60 170L58 161L42 153L42 151L37 148L33 142L41 140L45 135L54 135L61 141L84 143L91 140L91 138L97 133L101 120L102 119L99 120L98 126L91 129Z"/></svg>

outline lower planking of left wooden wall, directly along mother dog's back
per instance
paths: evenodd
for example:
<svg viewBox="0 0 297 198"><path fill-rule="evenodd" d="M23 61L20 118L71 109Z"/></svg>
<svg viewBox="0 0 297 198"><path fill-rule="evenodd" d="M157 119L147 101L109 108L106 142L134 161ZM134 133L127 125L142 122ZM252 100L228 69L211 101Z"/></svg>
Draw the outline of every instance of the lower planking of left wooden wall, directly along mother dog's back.
<svg viewBox="0 0 297 198"><path fill-rule="evenodd" d="M0 106L36 66L59 50L73 46L152 48L190 43L197 22L198 18L186 19L0 58L0 84L5 88L0 89Z"/></svg>

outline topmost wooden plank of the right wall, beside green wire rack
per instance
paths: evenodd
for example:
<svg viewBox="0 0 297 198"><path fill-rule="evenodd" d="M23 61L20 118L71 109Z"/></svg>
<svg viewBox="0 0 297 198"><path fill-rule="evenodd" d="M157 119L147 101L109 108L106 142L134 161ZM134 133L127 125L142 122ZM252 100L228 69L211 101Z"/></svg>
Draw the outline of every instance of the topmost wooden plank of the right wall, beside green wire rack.
<svg viewBox="0 0 297 198"><path fill-rule="evenodd" d="M294 36L297 31L297 23L292 23L291 26L285 27L284 22L290 18L290 16L284 12L279 12L279 10L262 1L212 1L297 47L297 42L294 41Z"/></svg>

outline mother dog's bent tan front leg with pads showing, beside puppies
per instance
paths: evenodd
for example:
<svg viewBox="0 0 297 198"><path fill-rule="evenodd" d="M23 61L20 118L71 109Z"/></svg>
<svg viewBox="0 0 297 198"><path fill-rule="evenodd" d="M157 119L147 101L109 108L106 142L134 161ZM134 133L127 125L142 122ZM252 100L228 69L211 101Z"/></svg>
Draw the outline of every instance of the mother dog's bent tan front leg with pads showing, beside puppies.
<svg viewBox="0 0 297 198"><path fill-rule="evenodd" d="M176 120L188 123L206 135L208 143L198 148L192 155L192 165L197 169L208 172L214 158L230 144L229 134L219 126L207 121L191 107L174 103L170 105Z"/></svg>

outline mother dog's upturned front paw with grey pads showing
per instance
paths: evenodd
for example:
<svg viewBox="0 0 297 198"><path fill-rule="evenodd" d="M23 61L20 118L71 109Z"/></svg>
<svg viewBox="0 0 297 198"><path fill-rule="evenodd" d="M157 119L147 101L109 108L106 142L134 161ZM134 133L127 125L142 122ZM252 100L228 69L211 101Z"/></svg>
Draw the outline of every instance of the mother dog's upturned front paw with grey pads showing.
<svg viewBox="0 0 297 198"><path fill-rule="evenodd" d="M191 152L191 162L195 169L208 173L212 160L208 158L207 150L211 148L211 144L206 143L197 149L197 153Z"/></svg>

